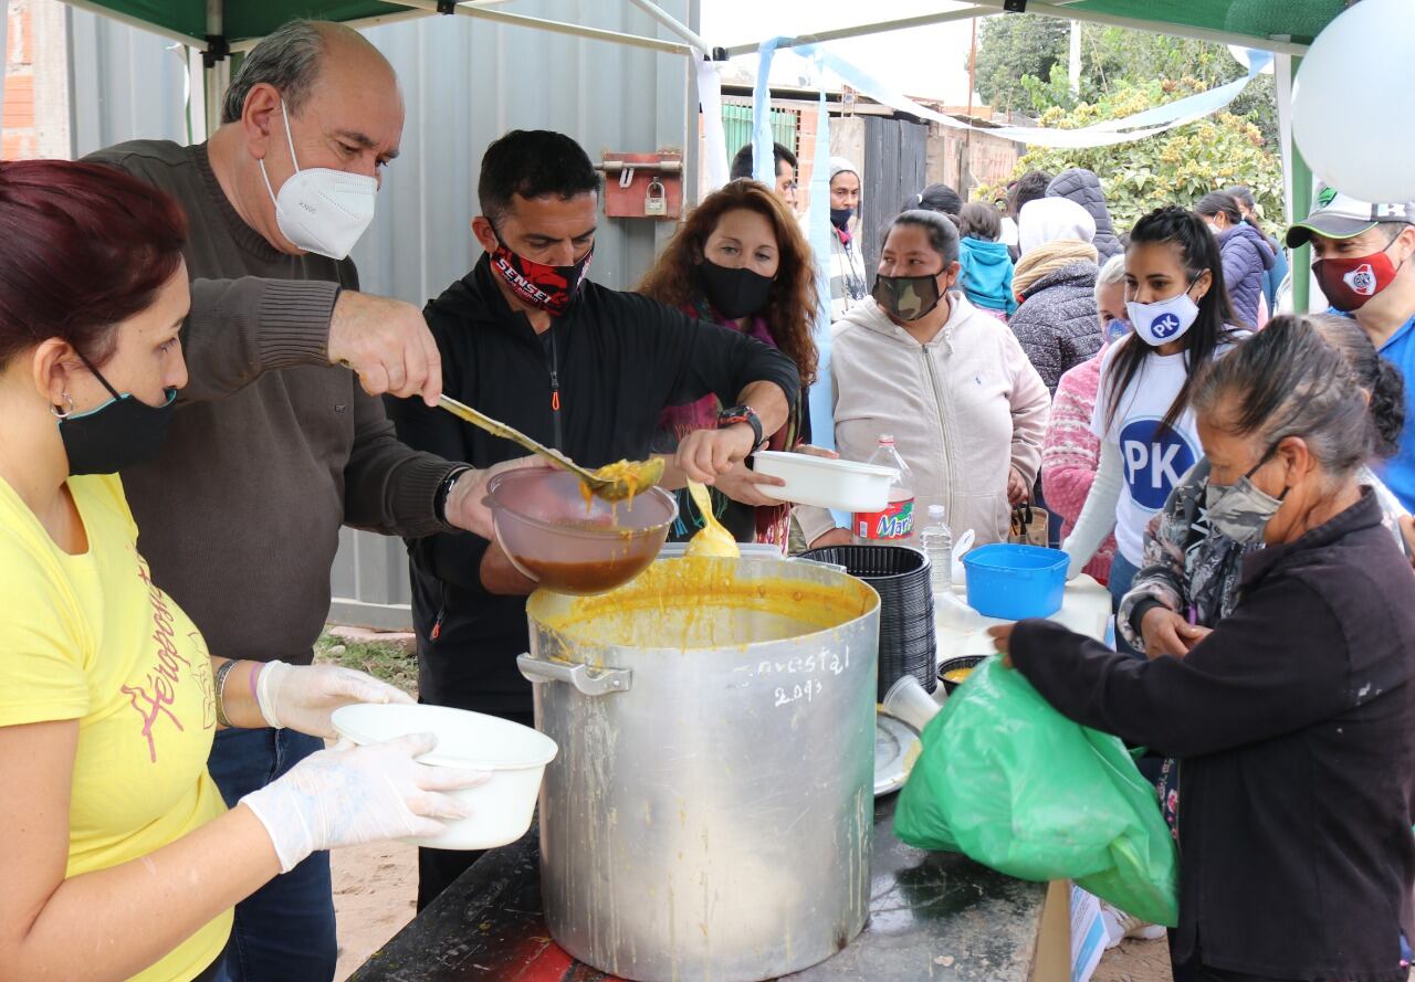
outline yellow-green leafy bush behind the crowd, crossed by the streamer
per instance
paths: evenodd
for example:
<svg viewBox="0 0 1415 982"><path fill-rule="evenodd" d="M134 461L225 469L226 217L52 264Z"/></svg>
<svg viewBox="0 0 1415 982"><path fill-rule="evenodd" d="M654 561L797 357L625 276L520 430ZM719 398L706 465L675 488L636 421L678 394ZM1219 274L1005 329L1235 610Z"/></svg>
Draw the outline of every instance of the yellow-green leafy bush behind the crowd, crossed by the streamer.
<svg viewBox="0 0 1415 982"><path fill-rule="evenodd" d="M1203 88L1207 85L1193 79L1116 83L1111 95L1094 103L1081 103L1070 110L1047 110L1041 116L1041 124L1073 130L1139 113ZM1085 167L1101 178L1118 230L1129 229L1140 215L1159 205L1189 206L1210 191L1230 184L1251 187L1262 215L1282 213L1282 162L1264 146L1261 130L1234 113L1217 113L1146 140L1114 147L1034 147L1017 161L1016 172L1020 175L1041 170L1060 174L1070 167ZM990 201L993 192L995 189L979 188L978 196Z"/></svg>

